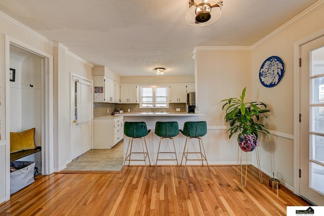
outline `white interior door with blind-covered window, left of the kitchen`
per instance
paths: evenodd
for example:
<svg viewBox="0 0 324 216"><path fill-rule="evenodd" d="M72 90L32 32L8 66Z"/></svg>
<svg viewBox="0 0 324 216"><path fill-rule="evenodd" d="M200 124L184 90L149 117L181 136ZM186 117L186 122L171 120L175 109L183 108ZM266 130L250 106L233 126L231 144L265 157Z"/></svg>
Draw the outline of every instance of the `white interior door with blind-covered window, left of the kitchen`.
<svg viewBox="0 0 324 216"><path fill-rule="evenodd" d="M92 148L92 83L72 76L71 88L71 159L74 159Z"/></svg>

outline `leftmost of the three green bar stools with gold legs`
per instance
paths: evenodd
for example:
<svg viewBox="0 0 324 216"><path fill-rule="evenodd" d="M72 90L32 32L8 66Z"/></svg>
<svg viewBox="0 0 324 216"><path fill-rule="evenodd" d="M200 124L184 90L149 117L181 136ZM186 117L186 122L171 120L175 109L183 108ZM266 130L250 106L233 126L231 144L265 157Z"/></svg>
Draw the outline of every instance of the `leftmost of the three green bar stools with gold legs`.
<svg viewBox="0 0 324 216"><path fill-rule="evenodd" d="M146 126L146 123L144 121L140 121L140 122L125 121L125 123L124 123L124 134L127 137L130 137L130 140L128 142L128 147L127 147L127 151L126 151L127 156L124 159L123 169L121 170L120 179L123 178L123 172L124 172L124 167L126 165L126 161L128 161L128 165L130 165L130 162L132 160L133 161L144 161L145 168L146 168L146 176L147 176L147 179L148 179L148 170L147 170L147 165L146 165L146 157L148 158L149 165L151 165L151 161L150 161L150 157L148 155L145 137L150 133L150 131L151 131L150 129L147 130L147 126ZM142 149L143 149L142 152L132 152L133 140L134 139L140 139L141 140ZM144 150L143 139L144 139L146 151ZM130 147L131 147L131 149L130 149L130 152L128 153L128 150L129 150ZM143 154L143 159L131 159L132 154Z"/></svg>

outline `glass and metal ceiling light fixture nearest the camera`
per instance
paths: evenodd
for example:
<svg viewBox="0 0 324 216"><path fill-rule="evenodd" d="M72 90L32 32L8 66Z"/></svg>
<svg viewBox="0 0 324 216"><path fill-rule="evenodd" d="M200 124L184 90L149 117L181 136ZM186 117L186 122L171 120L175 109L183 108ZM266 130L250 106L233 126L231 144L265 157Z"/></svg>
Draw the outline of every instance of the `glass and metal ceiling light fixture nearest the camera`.
<svg viewBox="0 0 324 216"><path fill-rule="evenodd" d="M218 20L222 14L223 1L189 0L186 14L187 23L193 26L209 25Z"/></svg>

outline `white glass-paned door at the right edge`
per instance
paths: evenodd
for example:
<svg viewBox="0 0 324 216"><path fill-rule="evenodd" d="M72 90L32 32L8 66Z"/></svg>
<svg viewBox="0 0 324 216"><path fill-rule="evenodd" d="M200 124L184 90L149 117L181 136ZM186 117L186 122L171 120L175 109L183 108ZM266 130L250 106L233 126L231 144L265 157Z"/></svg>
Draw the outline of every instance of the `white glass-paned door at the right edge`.
<svg viewBox="0 0 324 216"><path fill-rule="evenodd" d="M301 47L300 195L324 205L324 36Z"/></svg>

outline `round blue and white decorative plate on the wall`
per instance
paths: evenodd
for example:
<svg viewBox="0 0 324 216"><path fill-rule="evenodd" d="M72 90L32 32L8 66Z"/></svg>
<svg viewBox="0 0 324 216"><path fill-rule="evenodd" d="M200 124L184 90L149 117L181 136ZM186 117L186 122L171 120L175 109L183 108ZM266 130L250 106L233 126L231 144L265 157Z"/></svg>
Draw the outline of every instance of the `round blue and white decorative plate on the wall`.
<svg viewBox="0 0 324 216"><path fill-rule="evenodd" d="M285 74L285 63L277 56L267 58L261 65L259 78L265 87L274 87Z"/></svg>

